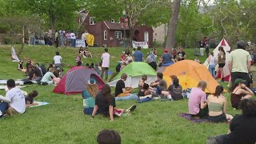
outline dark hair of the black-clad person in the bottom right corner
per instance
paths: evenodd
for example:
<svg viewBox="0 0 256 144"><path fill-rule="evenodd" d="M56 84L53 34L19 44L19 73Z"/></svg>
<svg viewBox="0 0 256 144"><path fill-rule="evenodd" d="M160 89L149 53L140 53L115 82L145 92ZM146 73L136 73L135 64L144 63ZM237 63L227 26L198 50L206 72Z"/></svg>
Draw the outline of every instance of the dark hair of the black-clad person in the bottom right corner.
<svg viewBox="0 0 256 144"><path fill-rule="evenodd" d="M240 102L240 108L242 110L242 115L246 115L246 116L256 115L256 101L254 99L244 98Z"/></svg>

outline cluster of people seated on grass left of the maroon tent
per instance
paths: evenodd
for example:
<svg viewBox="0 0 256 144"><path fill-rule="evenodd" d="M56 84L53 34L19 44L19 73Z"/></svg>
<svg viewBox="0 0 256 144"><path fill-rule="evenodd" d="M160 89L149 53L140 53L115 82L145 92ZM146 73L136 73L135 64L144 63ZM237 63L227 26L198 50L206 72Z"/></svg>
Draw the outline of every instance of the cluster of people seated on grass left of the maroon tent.
<svg viewBox="0 0 256 144"><path fill-rule="evenodd" d="M23 62L20 61L18 63L18 70L26 73L26 78L22 79L25 84L38 83L41 85L58 85L58 82L60 82L63 77L61 66L50 64L46 69L44 64L41 66L38 63L33 65L30 59L26 62L26 69L23 67Z"/></svg>

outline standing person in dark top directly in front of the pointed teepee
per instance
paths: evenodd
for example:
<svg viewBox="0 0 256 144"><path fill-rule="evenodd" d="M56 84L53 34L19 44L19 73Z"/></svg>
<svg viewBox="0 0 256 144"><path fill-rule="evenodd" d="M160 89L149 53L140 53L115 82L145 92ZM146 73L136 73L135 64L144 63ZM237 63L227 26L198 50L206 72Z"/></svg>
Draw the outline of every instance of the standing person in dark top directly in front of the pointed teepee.
<svg viewBox="0 0 256 144"><path fill-rule="evenodd" d="M222 46L218 47L218 69L216 73L216 78L218 78L219 71L221 72L221 81L224 82L224 70L223 67L226 64L226 53Z"/></svg>

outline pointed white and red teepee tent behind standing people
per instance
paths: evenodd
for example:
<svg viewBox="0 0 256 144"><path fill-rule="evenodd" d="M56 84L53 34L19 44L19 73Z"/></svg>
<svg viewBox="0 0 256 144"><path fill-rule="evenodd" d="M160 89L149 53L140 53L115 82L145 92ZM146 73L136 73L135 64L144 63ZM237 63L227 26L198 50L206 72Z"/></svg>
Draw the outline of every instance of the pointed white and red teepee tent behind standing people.
<svg viewBox="0 0 256 144"><path fill-rule="evenodd" d="M218 59L218 47L219 46L222 46L225 53L226 53L226 65L223 67L223 70L224 70L224 80L225 81L229 81L229 78L230 78L230 70L229 70L229 67L228 67L228 56L229 56L229 51L230 51L230 45L226 42L226 39L225 38L222 38L222 41L219 42L218 46L214 49L214 57ZM208 67L208 62L207 62L207 59L206 59L206 62L203 63L205 66ZM216 66L216 70L218 70L218 65ZM216 75L217 78L220 78L221 75L219 73L219 75Z"/></svg>

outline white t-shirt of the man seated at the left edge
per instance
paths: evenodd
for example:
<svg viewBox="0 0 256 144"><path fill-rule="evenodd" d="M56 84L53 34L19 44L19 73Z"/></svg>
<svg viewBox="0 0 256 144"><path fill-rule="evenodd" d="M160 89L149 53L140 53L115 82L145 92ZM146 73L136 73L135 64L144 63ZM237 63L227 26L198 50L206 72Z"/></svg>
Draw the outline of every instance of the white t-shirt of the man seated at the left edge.
<svg viewBox="0 0 256 144"><path fill-rule="evenodd" d="M10 99L10 107L14 108L19 114L23 114L26 111L25 97L18 87L7 91L6 98Z"/></svg>

